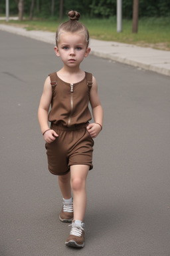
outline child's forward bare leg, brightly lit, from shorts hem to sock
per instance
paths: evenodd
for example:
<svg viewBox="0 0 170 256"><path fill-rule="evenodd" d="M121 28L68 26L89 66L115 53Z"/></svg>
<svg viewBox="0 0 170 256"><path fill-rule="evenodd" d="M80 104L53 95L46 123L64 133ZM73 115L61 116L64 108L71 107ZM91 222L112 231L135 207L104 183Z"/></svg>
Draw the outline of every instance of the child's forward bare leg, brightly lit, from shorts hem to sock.
<svg viewBox="0 0 170 256"><path fill-rule="evenodd" d="M88 165L70 166L74 220L83 221L84 219L86 211L86 178L88 171Z"/></svg>

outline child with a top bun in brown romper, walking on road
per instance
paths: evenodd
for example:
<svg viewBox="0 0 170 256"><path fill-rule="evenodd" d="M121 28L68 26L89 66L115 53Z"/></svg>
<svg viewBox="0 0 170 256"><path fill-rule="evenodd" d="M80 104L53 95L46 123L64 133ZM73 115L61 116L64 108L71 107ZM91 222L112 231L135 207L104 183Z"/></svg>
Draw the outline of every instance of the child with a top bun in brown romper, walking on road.
<svg viewBox="0 0 170 256"><path fill-rule="evenodd" d="M78 22L80 14L76 11L69 11L68 17L70 20L60 24L56 31L54 47L63 67L46 78L38 117L46 141L48 169L58 175L63 197L59 218L62 222L72 222L66 245L81 248L84 247L86 177L93 167L93 139L102 130L103 111L96 79L80 69L80 63L90 53L88 30ZM95 123L88 123L92 119L89 101Z"/></svg>

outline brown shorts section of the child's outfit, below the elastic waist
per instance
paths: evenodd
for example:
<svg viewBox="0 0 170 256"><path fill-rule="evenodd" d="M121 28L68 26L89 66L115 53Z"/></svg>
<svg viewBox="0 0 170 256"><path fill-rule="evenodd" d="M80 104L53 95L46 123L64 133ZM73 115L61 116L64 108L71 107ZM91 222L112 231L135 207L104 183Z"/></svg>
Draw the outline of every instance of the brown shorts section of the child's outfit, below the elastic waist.
<svg viewBox="0 0 170 256"><path fill-rule="evenodd" d="M52 143L46 143L48 170L54 175L65 175L70 171L70 165L92 165L94 141L88 131L87 124L76 127L52 125L58 137Z"/></svg>

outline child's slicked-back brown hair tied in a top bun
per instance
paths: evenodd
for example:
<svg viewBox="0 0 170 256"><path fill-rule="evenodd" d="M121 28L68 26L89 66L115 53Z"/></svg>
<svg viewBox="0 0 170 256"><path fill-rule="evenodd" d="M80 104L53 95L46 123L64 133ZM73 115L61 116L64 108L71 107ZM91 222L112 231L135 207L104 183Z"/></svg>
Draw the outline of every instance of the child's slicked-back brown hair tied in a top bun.
<svg viewBox="0 0 170 256"><path fill-rule="evenodd" d="M69 17L69 21L66 21L64 23L61 23L58 27L58 29L56 30L56 46L58 44L59 41L59 36L60 33L62 32L70 32L70 33L84 33L86 35L86 42L87 42L87 47L89 44L89 33L88 33L88 29L78 21L78 19L80 18L80 13L78 13L77 11L68 11L68 17Z"/></svg>

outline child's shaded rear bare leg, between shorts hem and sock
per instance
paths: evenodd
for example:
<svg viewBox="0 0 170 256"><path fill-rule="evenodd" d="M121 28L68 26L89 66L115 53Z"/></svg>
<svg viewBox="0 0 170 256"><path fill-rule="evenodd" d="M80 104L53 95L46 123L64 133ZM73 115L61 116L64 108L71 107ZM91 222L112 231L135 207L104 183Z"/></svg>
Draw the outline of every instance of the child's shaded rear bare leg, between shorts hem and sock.
<svg viewBox="0 0 170 256"><path fill-rule="evenodd" d="M71 187L70 187L70 172L66 175L58 176L58 184L60 186L60 191L64 199L70 199L72 197Z"/></svg>

